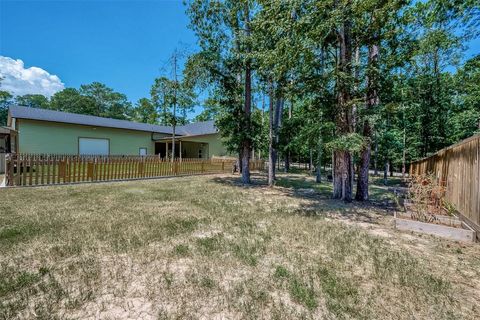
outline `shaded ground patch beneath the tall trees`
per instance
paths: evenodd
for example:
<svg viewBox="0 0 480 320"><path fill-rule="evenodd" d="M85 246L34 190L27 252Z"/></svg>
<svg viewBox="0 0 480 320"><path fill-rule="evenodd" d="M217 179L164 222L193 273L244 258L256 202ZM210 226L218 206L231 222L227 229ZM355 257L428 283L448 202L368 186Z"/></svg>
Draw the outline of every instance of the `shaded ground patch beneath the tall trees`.
<svg viewBox="0 0 480 320"><path fill-rule="evenodd" d="M256 189L258 192L263 192L266 197L273 193L302 200L298 208L285 210L289 210L288 213L303 216L339 218L377 224L380 218L393 215L397 209L394 194L386 189L372 186L370 201L346 203L332 199L331 182L316 183L312 176L305 174L279 173L273 189L268 187L267 176L262 173L252 174L250 185L242 184L239 176L214 177L212 180L223 185Z"/></svg>

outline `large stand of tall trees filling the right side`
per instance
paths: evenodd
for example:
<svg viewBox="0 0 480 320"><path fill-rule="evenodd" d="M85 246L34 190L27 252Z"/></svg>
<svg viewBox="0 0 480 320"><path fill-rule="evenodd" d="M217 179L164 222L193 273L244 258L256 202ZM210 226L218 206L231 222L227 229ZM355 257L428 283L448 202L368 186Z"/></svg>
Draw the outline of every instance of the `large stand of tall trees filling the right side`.
<svg viewBox="0 0 480 320"><path fill-rule="evenodd" d="M333 162L334 197L479 131L478 0L190 0L185 73L238 152ZM265 101L268 100L268 107ZM267 142L267 143L266 143ZM275 179L270 165L269 183Z"/></svg>

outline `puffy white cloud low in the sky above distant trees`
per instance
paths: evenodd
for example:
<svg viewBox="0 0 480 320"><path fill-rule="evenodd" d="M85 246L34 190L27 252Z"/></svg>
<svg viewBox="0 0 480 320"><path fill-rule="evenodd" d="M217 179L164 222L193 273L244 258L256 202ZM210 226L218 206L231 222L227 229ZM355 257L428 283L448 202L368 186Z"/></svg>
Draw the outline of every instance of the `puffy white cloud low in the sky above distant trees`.
<svg viewBox="0 0 480 320"><path fill-rule="evenodd" d="M25 69L22 60L9 57L0 56L0 77L3 78L0 90L8 91L15 96L43 94L51 97L55 92L65 88L56 75L38 67Z"/></svg>

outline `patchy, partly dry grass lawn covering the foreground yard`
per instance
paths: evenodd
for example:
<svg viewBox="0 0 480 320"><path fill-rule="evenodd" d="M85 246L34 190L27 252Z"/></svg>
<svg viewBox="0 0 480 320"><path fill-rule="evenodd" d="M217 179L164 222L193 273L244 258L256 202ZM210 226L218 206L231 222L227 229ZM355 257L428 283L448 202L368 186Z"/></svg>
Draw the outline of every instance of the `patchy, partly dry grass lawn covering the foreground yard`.
<svg viewBox="0 0 480 320"><path fill-rule="evenodd" d="M0 189L0 319L478 319L480 246L302 174Z"/></svg>

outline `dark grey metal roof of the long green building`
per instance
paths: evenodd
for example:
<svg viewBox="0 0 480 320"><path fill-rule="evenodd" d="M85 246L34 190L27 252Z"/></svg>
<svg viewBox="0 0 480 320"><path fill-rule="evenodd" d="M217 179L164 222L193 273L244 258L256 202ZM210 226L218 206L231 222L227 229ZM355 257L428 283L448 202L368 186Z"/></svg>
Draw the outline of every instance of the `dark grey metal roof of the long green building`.
<svg viewBox="0 0 480 320"><path fill-rule="evenodd" d="M50 121L50 122L71 123L71 124L80 124L80 125L88 125L88 126L95 126L95 127L118 128L118 129L128 129L128 130L155 132L155 133L171 134L173 132L172 127L169 127L169 126L159 126L159 125L148 124L148 123L139 123L139 122L133 122L133 121L127 121L127 120L102 118L102 117L88 116L83 114L47 110L47 109L11 106L9 108L9 111L10 111L10 116L12 118L17 118L17 119L30 119L30 120L40 120L40 121ZM179 135L205 135L205 134L212 134L216 132L217 132L217 129L215 128L213 121L206 121L206 122L191 123L185 126L178 126L176 128L175 133Z"/></svg>

